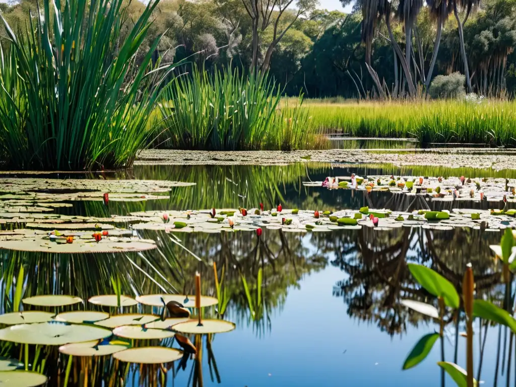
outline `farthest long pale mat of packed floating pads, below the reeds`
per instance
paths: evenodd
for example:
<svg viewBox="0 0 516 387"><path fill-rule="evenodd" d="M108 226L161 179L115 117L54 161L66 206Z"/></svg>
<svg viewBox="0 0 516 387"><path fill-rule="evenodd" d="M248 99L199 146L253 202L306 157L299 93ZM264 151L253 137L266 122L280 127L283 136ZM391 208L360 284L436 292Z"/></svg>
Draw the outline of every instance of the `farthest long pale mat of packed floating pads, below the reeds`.
<svg viewBox="0 0 516 387"><path fill-rule="evenodd" d="M516 169L516 150L478 148L433 148L410 150L320 150L320 151L179 151L144 150L135 165L288 165L319 162L330 164L392 164L394 166L439 166L449 168Z"/></svg>

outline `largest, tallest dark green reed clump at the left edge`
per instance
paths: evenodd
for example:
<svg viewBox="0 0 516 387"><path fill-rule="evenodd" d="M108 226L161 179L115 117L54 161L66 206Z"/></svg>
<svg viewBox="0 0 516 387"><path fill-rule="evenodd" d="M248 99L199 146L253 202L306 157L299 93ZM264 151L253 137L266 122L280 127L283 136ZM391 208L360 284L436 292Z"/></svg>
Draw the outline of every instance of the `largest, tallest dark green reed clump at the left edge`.
<svg viewBox="0 0 516 387"><path fill-rule="evenodd" d="M126 36L123 4L43 0L20 33L2 18L10 42L0 50L0 153L9 166L119 168L144 147L159 95L151 71L158 40L135 61L157 2Z"/></svg>

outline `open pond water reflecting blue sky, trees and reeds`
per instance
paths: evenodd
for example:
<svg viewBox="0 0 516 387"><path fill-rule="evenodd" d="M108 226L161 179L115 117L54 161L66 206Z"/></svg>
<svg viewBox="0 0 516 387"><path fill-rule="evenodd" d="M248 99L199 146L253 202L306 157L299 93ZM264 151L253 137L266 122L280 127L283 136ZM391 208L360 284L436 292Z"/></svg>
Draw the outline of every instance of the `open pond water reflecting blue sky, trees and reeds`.
<svg viewBox="0 0 516 387"><path fill-rule="evenodd" d="M196 183L191 187L172 188L167 200L110 200L107 205L102 201L79 200L70 201L72 206L54 209L62 216L106 217L151 210L253 208L259 203L263 203L265 208L281 203L283 208L333 212L358 209L364 205L405 211L407 201L403 198L392 200L394 194L391 192L373 191L367 194L365 191L307 187L302 183L324 180L328 175L349 176L352 172L361 175L392 173L419 176L432 175L431 171L431 168L385 170L366 166L332 168L328 164L135 166L132 171L115 174L42 174L35 177ZM464 170L444 172L438 171L439 175L465 174ZM466 172L472 177L514 177L513 172L509 171ZM433 202L429 205L436 211L458 206L480 210L493 206L501 208L503 203L488 205L464 201ZM0 223L2 230L12 230L17 226L20 225ZM179 241L172 234L178 236ZM68 384L436 386L442 383L441 371L436 364L441 360L439 342L423 363L409 370L401 369L419 338L439 330L431 318L400 304L404 298L420 301L431 299L413 280L407 263L430 266L460 287L466 264L471 262L476 277L477 297L496 299L503 294L503 287L499 265L493 260L489 245L498 244L501 235L497 230L471 228L440 231L403 227L377 231L364 227L360 230L303 234L264 229L261 238L257 239L250 232L181 234L143 230L140 236L157 241L156 250L111 254L0 250L1 309L3 313L12 310L13 300L17 297L17 286L12 282L20 280L23 281L22 298L70 294L86 300L95 295L112 294L114 278L118 281L120 293L132 297L154 293L193 294L193 279L196 271L199 271L202 294L216 295L215 263L217 279L222 281L221 292L225 292L228 300L227 308L221 311L219 304L209 308L204 317L217 318L220 317L219 312L223 312L223 318L234 322L236 328L228 333L199 337L203 343L200 361L188 359L184 370L178 369L178 362L167 365L166 378L162 379L162 376L156 376L163 375L159 374L157 367L125 367L124 363L114 362L110 357L102 360L75 358ZM132 308L125 311L160 312L159 308L144 305ZM25 309L40 308L25 305ZM76 308L63 307L59 311L77 309L115 313L112 308L93 308L88 302ZM458 328L459 331L465 329L464 321L460 321ZM481 329L481 335L478 334L478 327L475 330L476 374L480 347L478 338L483 339L484 329ZM504 333L505 330L502 330L502 343L508 343L509 335L504 336ZM480 378L484 385L493 385L497 353L501 352L497 348L498 335L498 326L487 329ZM457 348L457 363L464 366L465 338L457 337L456 346L456 336L456 326L450 319L444 340L445 359L453 362ZM512 335L510 338L512 341ZM193 336L191 339L194 341ZM23 346L5 341L0 343L4 356L17 358L23 363L20 352ZM133 344L141 346L146 343L140 341ZM178 347L170 339L153 341L152 344ZM30 364L32 366L34 360L35 369L38 369L43 355L38 362L34 358L36 349L33 347L29 348ZM51 378L49 385L64 385L65 370L59 362L68 357L60 355L56 347L52 348L44 352L44 373ZM516 352L513 357L516 357ZM515 365L506 356L502 362L500 356L500 384L505 383L507 373ZM516 381L515 374L516 369L513 369L511 383ZM89 375L87 382L84 375ZM448 377L443 383L454 385Z"/></svg>

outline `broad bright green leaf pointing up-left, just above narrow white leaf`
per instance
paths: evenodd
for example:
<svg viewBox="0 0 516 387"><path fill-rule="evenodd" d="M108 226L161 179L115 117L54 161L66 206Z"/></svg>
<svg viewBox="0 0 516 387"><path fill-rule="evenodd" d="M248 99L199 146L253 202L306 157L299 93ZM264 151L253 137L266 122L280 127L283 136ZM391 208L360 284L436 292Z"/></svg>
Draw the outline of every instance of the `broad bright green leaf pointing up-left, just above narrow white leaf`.
<svg viewBox="0 0 516 387"><path fill-rule="evenodd" d="M412 276L428 293L442 297L448 307L459 308L459 294L451 282L426 266L414 263L409 263L408 266Z"/></svg>

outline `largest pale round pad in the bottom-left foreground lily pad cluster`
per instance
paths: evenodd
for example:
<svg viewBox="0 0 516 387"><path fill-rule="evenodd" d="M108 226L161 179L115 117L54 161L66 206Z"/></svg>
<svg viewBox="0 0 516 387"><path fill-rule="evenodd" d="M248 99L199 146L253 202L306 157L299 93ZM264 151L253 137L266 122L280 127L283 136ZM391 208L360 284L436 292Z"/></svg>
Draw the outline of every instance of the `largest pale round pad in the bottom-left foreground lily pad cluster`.
<svg viewBox="0 0 516 387"><path fill-rule="evenodd" d="M36 324L20 324L0 329L0 340L21 344L64 345L99 340L108 337L111 331L91 325L70 325L51 321Z"/></svg>

